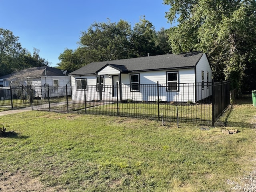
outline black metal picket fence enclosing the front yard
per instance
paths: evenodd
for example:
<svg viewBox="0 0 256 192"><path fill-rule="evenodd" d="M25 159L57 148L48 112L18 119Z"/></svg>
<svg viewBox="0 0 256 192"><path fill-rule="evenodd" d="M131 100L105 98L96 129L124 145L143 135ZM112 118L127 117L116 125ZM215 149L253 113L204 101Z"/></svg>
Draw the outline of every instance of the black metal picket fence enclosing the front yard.
<svg viewBox="0 0 256 192"><path fill-rule="evenodd" d="M169 89L176 89L169 91ZM0 89L0 106L100 114L214 126L229 105L229 82L99 86L27 86Z"/></svg>

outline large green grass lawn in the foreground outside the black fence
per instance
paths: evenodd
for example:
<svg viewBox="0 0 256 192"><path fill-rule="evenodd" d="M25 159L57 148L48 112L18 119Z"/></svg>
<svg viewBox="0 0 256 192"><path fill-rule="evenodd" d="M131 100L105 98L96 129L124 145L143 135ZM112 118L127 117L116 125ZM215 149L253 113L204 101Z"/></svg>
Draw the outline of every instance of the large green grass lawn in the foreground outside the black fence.
<svg viewBox="0 0 256 192"><path fill-rule="evenodd" d="M38 181L35 191L230 191L228 179L239 182L256 166L250 103L238 100L215 128L40 111L0 116L9 126L0 137L0 188L23 175Z"/></svg>

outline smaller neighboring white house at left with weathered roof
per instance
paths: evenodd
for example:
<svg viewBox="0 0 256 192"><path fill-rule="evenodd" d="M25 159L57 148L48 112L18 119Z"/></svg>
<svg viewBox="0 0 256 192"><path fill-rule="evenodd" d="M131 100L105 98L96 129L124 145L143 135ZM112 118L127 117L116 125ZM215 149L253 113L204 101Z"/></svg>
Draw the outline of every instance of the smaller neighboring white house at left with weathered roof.
<svg viewBox="0 0 256 192"><path fill-rule="evenodd" d="M66 72L48 66L28 68L0 77L0 86L1 83L6 87L32 86L34 96L39 98L65 96L65 86L70 86L70 76ZM47 85L49 85L49 92ZM70 88L68 95L71 95Z"/></svg>

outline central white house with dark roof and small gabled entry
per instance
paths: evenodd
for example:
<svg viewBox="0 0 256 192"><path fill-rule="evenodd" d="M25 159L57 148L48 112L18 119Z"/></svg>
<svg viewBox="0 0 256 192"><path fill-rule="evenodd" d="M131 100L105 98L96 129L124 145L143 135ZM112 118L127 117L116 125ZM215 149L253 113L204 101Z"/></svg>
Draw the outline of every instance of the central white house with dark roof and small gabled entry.
<svg viewBox="0 0 256 192"><path fill-rule="evenodd" d="M118 93L119 100L156 101L156 92L143 87L157 82L161 101L197 102L212 95L212 70L201 52L92 62L69 76L71 85L76 86L73 100L83 100L84 93L86 100L113 100ZM122 85L118 91L109 86L116 83ZM101 91L98 85L102 85ZM90 86L94 86L93 91L89 91Z"/></svg>

